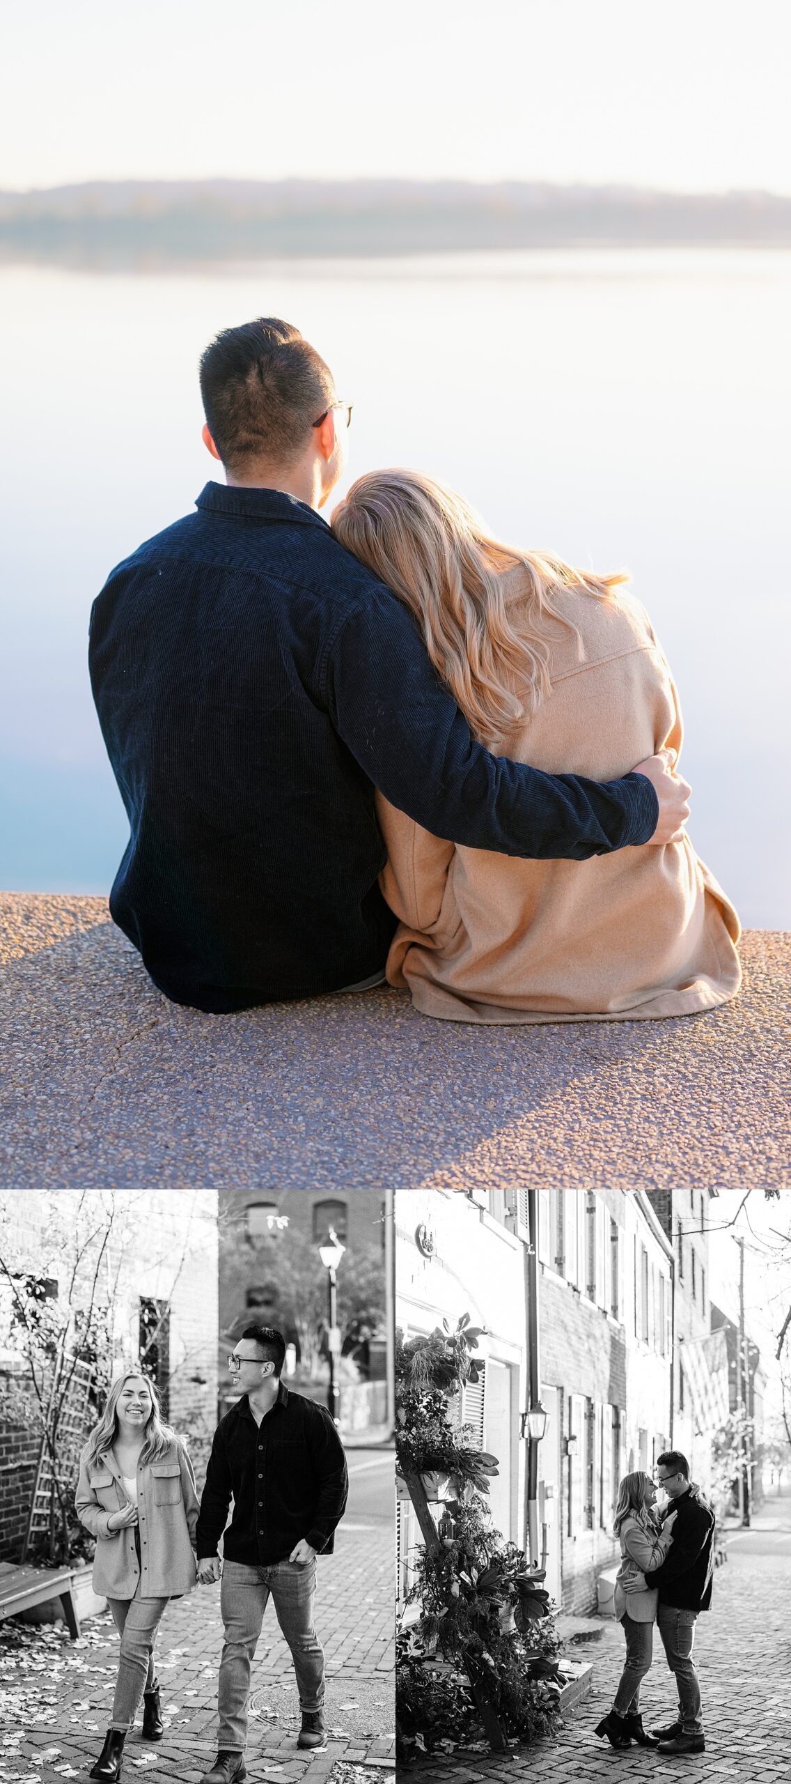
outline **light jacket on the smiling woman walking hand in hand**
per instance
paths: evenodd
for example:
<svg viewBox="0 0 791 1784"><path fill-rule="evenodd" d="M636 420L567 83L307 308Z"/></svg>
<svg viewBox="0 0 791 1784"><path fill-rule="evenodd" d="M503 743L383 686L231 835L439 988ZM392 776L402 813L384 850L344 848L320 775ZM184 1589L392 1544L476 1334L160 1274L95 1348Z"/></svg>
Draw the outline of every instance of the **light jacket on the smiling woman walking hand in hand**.
<svg viewBox="0 0 791 1784"><path fill-rule="evenodd" d="M180 1598L196 1581L192 1554L198 1524L198 1493L192 1463L183 1443L171 1441L159 1461L137 1466L137 1513L141 1563L134 1527L110 1531L114 1511L128 1506L121 1470L112 1450L100 1465L80 1456L75 1507L80 1524L96 1538L93 1590L107 1598Z"/></svg>

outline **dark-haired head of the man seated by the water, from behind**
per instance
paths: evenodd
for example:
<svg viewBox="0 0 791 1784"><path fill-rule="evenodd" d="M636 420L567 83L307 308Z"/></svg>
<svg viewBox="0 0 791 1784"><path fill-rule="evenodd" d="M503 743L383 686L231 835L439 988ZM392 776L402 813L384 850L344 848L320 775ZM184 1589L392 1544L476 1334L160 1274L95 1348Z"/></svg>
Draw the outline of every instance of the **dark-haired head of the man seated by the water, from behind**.
<svg viewBox="0 0 791 1784"><path fill-rule="evenodd" d="M333 378L299 328L258 316L223 328L201 355L201 398L223 464L290 466L333 400Z"/></svg>

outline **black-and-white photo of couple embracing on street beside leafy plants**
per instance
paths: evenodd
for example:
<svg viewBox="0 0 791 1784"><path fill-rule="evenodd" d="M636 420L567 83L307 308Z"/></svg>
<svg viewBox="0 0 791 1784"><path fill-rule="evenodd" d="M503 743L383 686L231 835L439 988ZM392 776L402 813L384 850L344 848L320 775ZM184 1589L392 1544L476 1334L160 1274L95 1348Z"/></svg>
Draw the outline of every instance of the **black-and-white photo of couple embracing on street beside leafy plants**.
<svg viewBox="0 0 791 1784"><path fill-rule="evenodd" d="M787 1777L791 1195L396 1195L415 1784Z"/></svg>

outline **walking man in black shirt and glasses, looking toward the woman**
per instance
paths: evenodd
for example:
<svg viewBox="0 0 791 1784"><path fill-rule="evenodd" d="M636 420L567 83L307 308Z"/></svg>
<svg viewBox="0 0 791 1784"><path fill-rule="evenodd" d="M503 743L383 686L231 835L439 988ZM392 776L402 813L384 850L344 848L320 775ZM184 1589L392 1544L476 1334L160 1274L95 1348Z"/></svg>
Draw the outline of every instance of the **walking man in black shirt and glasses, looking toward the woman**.
<svg viewBox="0 0 791 1784"><path fill-rule="evenodd" d="M269 1597L294 1661L298 1747L326 1745L315 1556L333 1552L349 1477L330 1413L283 1386L283 1359L285 1340L274 1326L246 1326L228 1356L241 1399L214 1434L196 1529L198 1579L221 1579L224 1625L217 1757L201 1784L237 1784L246 1775L249 1673Z"/></svg>

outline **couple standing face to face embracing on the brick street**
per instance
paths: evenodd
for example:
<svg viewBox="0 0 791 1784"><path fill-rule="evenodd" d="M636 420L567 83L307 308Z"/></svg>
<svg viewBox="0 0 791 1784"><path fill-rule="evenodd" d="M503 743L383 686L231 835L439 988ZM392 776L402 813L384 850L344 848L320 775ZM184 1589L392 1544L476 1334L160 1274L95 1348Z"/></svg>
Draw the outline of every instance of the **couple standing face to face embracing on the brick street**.
<svg viewBox="0 0 791 1784"><path fill-rule="evenodd" d="M668 1497L661 1518L657 1486ZM622 1623L627 1659L613 1707L597 1734L611 1747L659 1747L661 1754L705 1752L700 1714L700 1684L693 1654L695 1623L711 1606L714 1566L714 1513L689 1481L681 1450L663 1450L656 1481L638 1470L618 1488L615 1534L622 1563L615 1588L615 1615ZM679 1691L679 1714L665 1729L647 1734L640 1689L652 1661L654 1622Z"/></svg>

